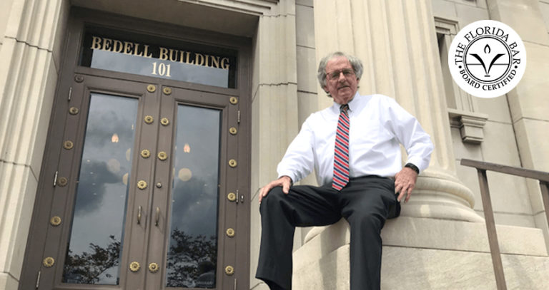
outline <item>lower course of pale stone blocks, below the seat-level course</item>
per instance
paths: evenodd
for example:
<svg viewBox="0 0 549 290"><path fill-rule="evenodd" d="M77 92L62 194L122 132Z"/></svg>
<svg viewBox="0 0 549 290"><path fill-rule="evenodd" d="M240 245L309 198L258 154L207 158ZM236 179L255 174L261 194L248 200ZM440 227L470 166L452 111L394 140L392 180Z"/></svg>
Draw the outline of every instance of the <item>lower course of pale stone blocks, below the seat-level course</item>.
<svg viewBox="0 0 549 290"><path fill-rule="evenodd" d="M489 253L387 246L381 289L496 289ZM549 257L503 254L508 289L549 289ZM294 270L293 289L349 289L349 245Z"/></svg>

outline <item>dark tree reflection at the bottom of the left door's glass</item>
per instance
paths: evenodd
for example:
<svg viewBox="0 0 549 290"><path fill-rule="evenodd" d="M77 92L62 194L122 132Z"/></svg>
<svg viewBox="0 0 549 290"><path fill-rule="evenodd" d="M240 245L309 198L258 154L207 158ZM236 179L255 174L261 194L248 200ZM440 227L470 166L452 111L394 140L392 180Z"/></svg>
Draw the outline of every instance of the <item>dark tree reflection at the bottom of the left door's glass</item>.
<svg viewBox="0 0 549 290"><path fill-rule="evenodd" d="M64 281L66 283L99 284L102 274L107 278L112 278L112 274L106 273L106 271L119 264L120 241L114 235L109 237L111 242L106 248L90 243L90 253L72 254L69 249L64 266Z"/></svg>

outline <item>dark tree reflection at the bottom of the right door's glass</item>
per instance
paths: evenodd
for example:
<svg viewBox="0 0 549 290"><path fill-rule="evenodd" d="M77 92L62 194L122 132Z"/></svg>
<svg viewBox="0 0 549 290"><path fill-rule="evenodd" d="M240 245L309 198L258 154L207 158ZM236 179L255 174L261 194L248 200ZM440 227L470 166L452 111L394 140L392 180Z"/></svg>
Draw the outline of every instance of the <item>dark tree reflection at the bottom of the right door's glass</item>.
<svg viewBox="0 0 549 290"><path fill-rule="evenodd" d="M169 287L214 288L217 237L194 237L175 228L168 253Z"/></svg>

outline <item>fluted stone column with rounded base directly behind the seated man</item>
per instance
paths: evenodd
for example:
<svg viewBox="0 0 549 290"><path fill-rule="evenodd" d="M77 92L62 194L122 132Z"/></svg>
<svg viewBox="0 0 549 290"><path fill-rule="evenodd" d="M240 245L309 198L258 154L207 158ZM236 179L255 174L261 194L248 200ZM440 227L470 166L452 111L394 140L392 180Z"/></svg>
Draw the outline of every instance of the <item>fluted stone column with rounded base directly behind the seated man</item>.
<svg viewBox="0 0 549 290"><path fill-rule="evenodd" d="M336 50L359 57L365 65L360 93L395 98L435 144L402 216L483 222L455 171L430 1L315 1L315 34L318 59Z"/></svg>

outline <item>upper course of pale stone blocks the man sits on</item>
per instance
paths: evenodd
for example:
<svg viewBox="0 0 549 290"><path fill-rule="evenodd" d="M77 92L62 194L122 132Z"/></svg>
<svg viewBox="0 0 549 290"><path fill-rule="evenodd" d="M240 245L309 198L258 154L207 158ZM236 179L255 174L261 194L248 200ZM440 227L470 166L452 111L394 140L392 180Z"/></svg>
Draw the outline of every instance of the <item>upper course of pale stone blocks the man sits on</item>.
<svg viewBox="0 0 549 290"><path fill-rule="evenodd" d="M506 225L496 227L503 254L548 257L541 229ZM384 247L490 253L485 224L478 222L398 217L385 223L381 236ZM312 229L305 238L305 244L294 252L294 269L327 256L349 244L349 241L349 225L344 219L328 227Z"/></svg>

